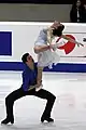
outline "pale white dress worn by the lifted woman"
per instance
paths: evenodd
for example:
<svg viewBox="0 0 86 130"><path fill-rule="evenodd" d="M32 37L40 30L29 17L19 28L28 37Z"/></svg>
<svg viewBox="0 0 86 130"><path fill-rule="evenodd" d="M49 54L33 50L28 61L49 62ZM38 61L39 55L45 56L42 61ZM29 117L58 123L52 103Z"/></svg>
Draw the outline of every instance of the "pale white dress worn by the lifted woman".
<svg viewBox="0 0 86 130"><path fill-rule="evenodd" d="M47 29L42 29L34 46L45 44L47 44ZM56 51L47 50L38 54L38 66L40 67L48 66L49 68L52 68L53 64L56 65L59 61L60 56L57 54Z"/></svg>

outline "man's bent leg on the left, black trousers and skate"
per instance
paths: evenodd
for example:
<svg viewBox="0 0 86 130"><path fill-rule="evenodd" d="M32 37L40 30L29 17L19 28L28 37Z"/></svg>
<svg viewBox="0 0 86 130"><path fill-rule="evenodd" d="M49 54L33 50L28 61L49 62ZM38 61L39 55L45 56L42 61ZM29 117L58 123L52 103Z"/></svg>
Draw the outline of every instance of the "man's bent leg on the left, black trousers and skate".
<svg viewBox="0 0 86 130"><path fill-rule="evenodd" d="M1 123L14 123L14 115L13 115L13 105L14 101L18 100L22 96L25 96L26 92L23 91L23 89L18 89L10 93L5 98L5 107L6 107L6 118L1 121Z"/></svg>

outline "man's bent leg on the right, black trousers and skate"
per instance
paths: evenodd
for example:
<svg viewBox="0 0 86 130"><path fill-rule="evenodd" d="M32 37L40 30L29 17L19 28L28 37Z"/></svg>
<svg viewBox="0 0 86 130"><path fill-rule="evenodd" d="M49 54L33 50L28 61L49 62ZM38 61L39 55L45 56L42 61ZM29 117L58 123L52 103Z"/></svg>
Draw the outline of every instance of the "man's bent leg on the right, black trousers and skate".
<svg viewBox="0 0 86 130"><path fill-rule="evenodd" d="M45 109L44 109L44 113L41 117L41 121L43 122L44 120L47 120L47 121L54 121L52 118L51 118L51 112L52 112L52 108L53 108L53 105L54 105L54 102L55 102L55 99L56 96L54 94L52 94L51 92L46 91L46 90L43 90L41 89L40 91L35 92L34 94L35 96L39 96L41 99L46 99L47 100L47 103L46 103L46 106L45 106Z"/></svg>

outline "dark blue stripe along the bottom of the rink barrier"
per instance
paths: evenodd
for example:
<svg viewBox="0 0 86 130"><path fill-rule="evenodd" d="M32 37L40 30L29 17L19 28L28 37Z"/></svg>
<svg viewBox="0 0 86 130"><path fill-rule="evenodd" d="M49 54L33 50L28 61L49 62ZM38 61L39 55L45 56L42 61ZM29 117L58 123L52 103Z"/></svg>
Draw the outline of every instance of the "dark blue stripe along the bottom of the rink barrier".
<svg viewBox="0 0 86 130"><path fill-rule="evenodd" d="M24 67L22 62L0 62L0 70L23 72ZM86 73L86 64L58 63L56 66L53 66L52 69L45 67L44 72Z"/></svg>

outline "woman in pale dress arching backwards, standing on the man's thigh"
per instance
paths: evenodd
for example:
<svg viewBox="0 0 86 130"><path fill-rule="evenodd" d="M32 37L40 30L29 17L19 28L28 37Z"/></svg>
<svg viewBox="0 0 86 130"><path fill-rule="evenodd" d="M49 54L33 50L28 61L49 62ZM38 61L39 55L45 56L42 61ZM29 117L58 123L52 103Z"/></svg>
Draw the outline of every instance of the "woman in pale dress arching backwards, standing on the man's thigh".
<svg viewBox="0 0 86 130"><path fill-rule="evenodd" d="M62 35L64 26L59 22L54 22L54 24L47 28L43 28L40 31L40 35L34 43L34 52L38 54L38 78L37 83L39 91L42 86L40 87L40 82L42 81L42 72L45 66L52 68L53 63L57 64L59 62L59 55L55 52L57 48L64 44L63 40L59 40L57 43L53 44L53 39L55 37L61 37L68 41L74 42L77 47L83 46L77 41Z"/></svg>

